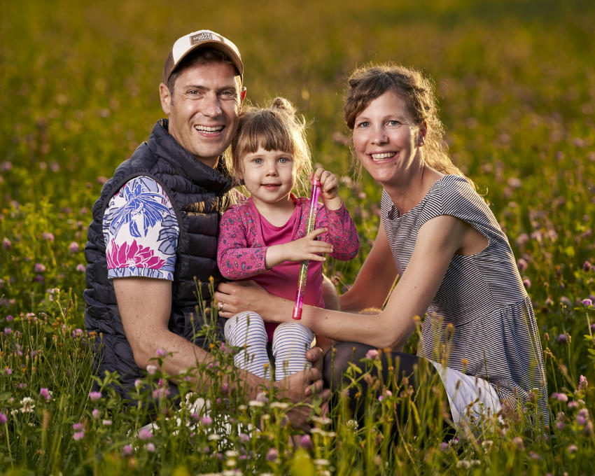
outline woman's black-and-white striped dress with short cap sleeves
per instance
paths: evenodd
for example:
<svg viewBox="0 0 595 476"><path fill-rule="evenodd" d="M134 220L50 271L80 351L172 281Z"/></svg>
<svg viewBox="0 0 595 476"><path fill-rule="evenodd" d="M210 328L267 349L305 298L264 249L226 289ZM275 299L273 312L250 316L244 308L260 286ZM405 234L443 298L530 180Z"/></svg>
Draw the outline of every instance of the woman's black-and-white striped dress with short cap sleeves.
<svg viewBox="0 0 595 476"><path fill-rule="evenodd" d="M383 191L381 217L398 273L411 259L421 225L440 215L467 223L488 245L475 255L453 256L421 326L418 356L489 381L500 400L514 408L537 388L533 394L539 395L538 409L547 424L542 347L531 300L504 232L463 177L441 177L403 216Z"/></svg>

